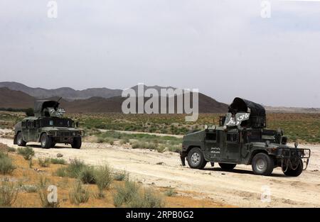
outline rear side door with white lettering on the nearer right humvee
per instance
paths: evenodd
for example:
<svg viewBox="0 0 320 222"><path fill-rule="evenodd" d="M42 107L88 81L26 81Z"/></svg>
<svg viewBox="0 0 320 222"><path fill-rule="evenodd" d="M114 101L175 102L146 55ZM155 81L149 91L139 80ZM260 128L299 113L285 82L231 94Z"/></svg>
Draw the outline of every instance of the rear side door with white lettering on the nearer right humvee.
<svg viewBox="0 0 320 222"><path fill-rule="evenodd" d="M205 138L206 155L210 159L217 159L221 157L219 134L217 131L206 132Z"/></svg>

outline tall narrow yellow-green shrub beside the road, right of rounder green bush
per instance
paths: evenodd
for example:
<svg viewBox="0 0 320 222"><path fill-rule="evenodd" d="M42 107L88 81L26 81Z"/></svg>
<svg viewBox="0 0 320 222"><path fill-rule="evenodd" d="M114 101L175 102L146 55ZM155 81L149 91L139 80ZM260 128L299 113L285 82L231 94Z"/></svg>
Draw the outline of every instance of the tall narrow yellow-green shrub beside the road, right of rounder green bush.
<svg viewBox="0 0 320 222"><path fill-rule="evenodd" d="M99 189L98 196L104 197L103 191L110 187L112 182L111 169L109 165L102 165L95 168L95 183Z"/></svg>

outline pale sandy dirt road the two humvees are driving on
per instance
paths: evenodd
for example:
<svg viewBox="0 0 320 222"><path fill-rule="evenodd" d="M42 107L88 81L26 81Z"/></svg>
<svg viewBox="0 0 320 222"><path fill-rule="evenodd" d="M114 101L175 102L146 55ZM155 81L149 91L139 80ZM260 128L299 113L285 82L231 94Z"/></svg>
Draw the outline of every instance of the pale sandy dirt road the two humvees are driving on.
<svg viewBox="0 0 320 222"><path fill-rule="evenodd" d="M12 140L0 138L0 143L11 147ZM175 187L186 195L210 198L221 204L248 207L314 207L320 206L320 145L300 145L311 148L308 169L299 177L286 177L275 169L271 177L252 174L250 166L237 166L233 172L223 172L217 166L205 170L181 167L180 158L174 152L133 150L125 145L83 143L81 150L68 146L41 149L36 143L28 143L36 151L36 157L55 157L63 154L65 160L75 157L92 165L109 163L114 169L127 170L131 177L156 187ZM271 201L261 201L264 186L270 188ZM267 190L265 190L267 192Z"/></svg>

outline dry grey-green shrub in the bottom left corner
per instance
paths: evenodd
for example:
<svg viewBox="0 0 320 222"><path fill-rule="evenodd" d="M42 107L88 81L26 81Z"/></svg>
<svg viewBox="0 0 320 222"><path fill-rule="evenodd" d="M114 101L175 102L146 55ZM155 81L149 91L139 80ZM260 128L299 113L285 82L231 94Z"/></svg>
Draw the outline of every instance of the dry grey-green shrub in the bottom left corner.
<svg viewBox="0 0 320 222"><path fill-rule="evenodd" d="M0 206L12 206L18 196L17 187L11 182L1 182L0 187Z"/></svg>

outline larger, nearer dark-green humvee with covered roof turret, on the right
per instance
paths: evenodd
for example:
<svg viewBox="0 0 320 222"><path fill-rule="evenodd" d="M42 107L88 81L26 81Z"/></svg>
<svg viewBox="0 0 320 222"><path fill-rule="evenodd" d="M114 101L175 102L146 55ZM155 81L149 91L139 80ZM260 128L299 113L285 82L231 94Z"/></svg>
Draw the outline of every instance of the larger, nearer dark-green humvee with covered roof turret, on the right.
<svg viewBox="0 0 320 222"><path fill-rule="evenodd" d="M311 151L291 148L282 130L266 129L265 109L252 101L235 98L219 126L183 137L181 162L187 159L191 168L203 169L207 162L223 170L236 165L252 165L255 174L270 175L275 167L284 174L297 177L306 170ZM305 165L305 166L304 166Z"/></svg>

